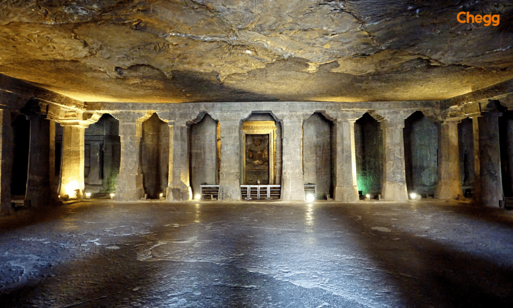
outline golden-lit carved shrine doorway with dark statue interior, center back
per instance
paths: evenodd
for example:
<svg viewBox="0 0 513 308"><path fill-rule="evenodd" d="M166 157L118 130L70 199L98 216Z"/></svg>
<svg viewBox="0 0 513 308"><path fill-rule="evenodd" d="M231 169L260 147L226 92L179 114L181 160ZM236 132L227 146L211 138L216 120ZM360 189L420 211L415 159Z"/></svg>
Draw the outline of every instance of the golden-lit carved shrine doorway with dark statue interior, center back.
<svg viewBox="0 0 513 308"><path fill-rule="evenodd" d="M243 132L243 183L272 185L276 181L276 124L274 121L246 121Z"/></svg>

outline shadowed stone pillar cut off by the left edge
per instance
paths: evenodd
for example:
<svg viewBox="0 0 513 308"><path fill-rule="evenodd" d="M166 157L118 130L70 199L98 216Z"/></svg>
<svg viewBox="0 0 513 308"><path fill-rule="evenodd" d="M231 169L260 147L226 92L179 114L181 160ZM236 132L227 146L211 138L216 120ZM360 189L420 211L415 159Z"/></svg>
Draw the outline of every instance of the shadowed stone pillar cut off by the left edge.
<svg viewBox="0 0 513 308"><path fill-rule="evenodd" d="M13 213L11 206L12 172L11 112L0 109L0 217Z"/></svg>

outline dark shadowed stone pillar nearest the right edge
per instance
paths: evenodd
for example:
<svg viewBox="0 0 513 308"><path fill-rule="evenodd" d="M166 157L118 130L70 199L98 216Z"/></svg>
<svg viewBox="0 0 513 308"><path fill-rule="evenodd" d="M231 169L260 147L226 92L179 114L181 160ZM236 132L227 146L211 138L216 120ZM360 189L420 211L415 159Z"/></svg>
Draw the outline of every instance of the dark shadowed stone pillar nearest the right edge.
<svg viewBox="0 0 513 308"><path fill-rule="evenodd" d="M496 207L500 200L504 200L499 146L499 117L502 112L491 108L485 108L485 111L477 117L478 127L475 129L479 143L475 148L479 151L479 178L474 186L479 186L479 190L474 195L479 204Z"/></svg>

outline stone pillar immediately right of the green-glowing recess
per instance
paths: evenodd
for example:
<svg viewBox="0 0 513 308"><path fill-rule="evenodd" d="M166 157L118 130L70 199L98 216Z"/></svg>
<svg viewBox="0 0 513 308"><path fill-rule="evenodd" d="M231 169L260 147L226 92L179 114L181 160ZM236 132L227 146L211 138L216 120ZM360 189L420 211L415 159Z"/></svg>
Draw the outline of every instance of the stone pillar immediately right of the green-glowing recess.
<svg viewBox="0 0 513 308"><path fill-rule="evenodd" d="M404 169L404 119L402 113L390 114L381 122L384 146L382 195L385 200L408 200Z"/></svg>

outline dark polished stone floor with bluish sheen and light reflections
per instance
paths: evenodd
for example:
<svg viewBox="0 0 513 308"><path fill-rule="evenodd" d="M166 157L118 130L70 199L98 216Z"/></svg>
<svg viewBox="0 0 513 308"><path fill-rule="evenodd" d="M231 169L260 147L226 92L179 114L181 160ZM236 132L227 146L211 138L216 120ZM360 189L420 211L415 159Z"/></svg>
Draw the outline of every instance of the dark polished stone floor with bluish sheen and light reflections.
<svg viewBox="0 0 513 308"><path fill-rule="evenodd" d="M464 202L83 201L0 219L1 307L511 307L512 266L511 211Z"/></svg>

